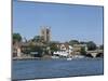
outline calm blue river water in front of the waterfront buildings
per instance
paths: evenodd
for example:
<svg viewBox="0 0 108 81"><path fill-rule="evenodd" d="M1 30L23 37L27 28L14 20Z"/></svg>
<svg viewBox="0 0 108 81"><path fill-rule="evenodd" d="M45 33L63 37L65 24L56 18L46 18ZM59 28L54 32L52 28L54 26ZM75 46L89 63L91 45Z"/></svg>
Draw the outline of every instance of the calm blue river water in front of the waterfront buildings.
<svg viewBox="0 0 108 81"><path fill-rule="evenodd" d="M12 79L40 79L103 75L103 58L13 60Z"/></svg>

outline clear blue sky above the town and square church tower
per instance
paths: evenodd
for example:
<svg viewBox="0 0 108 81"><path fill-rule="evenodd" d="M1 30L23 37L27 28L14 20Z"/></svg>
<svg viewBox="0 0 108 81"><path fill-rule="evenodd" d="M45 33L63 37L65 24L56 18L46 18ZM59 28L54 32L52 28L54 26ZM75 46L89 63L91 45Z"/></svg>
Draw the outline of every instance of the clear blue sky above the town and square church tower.
<svg viewBox="0 0 108 81"><path fill-rule="evenodd" d="M28 40L51 27L51 40L103 44L103 6L13 1L13 32Z"/></svg>

